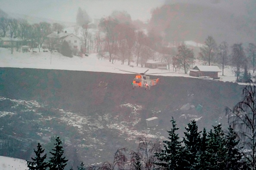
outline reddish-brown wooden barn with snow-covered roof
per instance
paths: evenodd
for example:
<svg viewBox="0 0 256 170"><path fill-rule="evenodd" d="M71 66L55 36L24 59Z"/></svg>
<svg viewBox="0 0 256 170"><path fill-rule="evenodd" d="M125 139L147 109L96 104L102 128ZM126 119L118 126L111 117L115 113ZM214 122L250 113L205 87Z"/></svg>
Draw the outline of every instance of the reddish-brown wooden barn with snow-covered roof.
<svg viewBox="0 0 256 170"><path fill-rule="evenodd" d="M221 72L218 66L195 66L190 70L189 75L193 77L211 77L219 79L218 73Z"/></svg>

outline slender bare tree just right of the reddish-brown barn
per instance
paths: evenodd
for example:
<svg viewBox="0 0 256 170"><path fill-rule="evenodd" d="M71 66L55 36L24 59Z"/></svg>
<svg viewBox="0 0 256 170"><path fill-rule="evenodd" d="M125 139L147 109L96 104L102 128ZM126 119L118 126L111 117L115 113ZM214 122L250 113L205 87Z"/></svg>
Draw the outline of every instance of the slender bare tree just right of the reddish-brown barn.
<svg viewBox="0 0 256 170"><path fill-rule="evenodd" d="M222 76L224 76L224 68L226 68L226 65L228 64L228 43L226 41L223 41L219 45L218 56L218 63L222 68Z"/></svg>

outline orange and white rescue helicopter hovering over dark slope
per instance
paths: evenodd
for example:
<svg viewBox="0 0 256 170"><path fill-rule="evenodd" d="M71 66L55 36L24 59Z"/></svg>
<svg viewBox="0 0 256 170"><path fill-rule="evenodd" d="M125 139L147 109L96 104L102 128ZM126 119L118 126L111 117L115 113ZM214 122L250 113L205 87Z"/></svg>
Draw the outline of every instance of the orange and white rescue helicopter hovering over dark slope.
<svg viewBox="0 0 256 170"><path fill-rule="evenodd" d="M118 69L118 68L116 68ZM151 75L151 74L163 74L163 73L148 73L147 75L145 73L147 73L146 70L144 73L136 73L136 72L132 72L132 71L127 71L127 70L122 70L122 69L118 69L120 71L124 71L124 72L128 72L128 73L134 73L137 74L137 76L135 76L135 78L133 79L132 84L132 89L136 88L136 87L142 87L145 88L145 90L150 90L150 87L153 85L158 84L160 79L150 79L149 76L147 75ZM166 73L174 73L174 72L166 72Z"/></svg>

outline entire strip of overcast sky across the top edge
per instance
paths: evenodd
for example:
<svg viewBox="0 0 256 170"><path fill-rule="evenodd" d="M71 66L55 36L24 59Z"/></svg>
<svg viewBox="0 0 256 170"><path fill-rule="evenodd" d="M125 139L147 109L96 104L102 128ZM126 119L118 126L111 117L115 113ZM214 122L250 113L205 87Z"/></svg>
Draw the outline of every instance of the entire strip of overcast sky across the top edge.
<svg viewBox="0 0 256 170"><path fill-rule="evenodd" d="M249 13L255 16L255 0L0 0L0 9L50 18L57 21L76 21L78 8L84 9L91 18L109 16L114 10L127 11L132 20L147 21L151 10L164 3L200 3L224 8L234 13Z"/></svg>

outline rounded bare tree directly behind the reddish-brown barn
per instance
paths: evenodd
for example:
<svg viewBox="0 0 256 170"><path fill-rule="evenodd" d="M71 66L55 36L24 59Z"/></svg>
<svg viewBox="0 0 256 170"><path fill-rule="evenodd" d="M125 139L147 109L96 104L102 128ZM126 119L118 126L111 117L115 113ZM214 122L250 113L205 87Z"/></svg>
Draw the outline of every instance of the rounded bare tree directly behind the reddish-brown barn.
<svg viewBox="0 0 256 170"><path fill-rule="evenodd" d="M205 46L200 47L199 58L204 65L210 66L216 61L217 44L212 36L208 36L204 43Z"/></svg>

